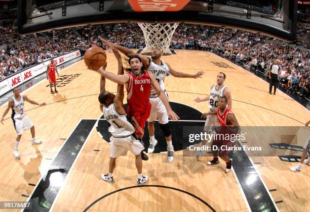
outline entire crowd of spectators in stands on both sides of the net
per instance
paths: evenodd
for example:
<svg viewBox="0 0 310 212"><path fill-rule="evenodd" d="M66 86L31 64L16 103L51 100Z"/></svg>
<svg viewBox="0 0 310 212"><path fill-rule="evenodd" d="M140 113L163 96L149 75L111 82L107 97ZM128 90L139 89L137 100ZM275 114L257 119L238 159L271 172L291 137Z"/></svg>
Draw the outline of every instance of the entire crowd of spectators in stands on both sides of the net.
<svg viewBox="0 0 310 212"><path fill-rule="evenodd" d="M11 23L11 24L10 24ZM23 43L12 39L17 35L14 22L0 24L0 41L8 44L1 50L0 80L16 71L48 60L51 57L74 49L86 50L100 45L98 36L128 48L143 48L145 40L136 23L87 25L45 32L42 39L31 41L38 35L19 36ZM309 30L298 25L297 36L302 37L309 47ZM20 40L18 40L20 41ZM16 43L17 42L17 43ZM246 69L255 68L261 72L275 60L281 65L281 85L299 95L309 91L309 51L300 50L287 43L274 43L268 37L245 31L211 26L179 24L171 48L209 50L228 60L242 64ZM265 73L267 74L267 73ZM267 76L267 75L266 75Z"/></svg>

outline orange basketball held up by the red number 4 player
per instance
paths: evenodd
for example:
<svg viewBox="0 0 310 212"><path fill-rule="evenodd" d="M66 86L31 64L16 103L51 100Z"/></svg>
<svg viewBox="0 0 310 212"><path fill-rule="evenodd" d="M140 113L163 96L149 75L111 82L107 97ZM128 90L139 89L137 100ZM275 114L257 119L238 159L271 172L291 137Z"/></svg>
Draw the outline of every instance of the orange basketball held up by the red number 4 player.
<svg viewBox="0 0 310 212"><path fill-rule="evenodd" d="M87 49L84 55L84 62L87 67L92 69L99 69L105 64L106 54L103 48L93 46Z"/></svg>

